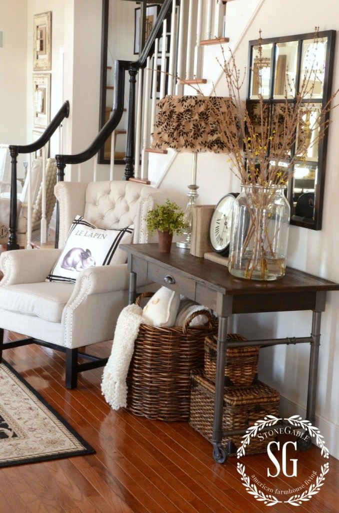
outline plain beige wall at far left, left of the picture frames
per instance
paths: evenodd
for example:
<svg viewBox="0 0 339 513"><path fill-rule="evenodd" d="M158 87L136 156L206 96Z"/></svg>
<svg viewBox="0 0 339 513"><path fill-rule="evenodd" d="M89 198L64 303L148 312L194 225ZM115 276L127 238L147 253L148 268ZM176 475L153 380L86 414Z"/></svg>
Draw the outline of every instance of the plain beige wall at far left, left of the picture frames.
<svg viewBox="0 0 339 513"><path fill-rule="evenodd" d="M26 0L1 0L0 142L5 144L26 143L26 15ZM18 176L20 170L18 166Z"/></svg>

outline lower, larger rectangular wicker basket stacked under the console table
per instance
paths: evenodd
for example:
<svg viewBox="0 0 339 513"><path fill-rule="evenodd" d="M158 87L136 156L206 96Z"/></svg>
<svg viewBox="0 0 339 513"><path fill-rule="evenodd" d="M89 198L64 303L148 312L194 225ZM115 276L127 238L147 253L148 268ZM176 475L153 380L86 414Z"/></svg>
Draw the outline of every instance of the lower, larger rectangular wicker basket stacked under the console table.
<svg viewBox="0 0 339 513"><path fill-rule="evenodd" d="M193 372L191 376L192 392L190 398L189 424L199 433L211 441L214 416L215 386L206 380L200 373ZM224 394L223 430L242 429L253 425L265 415L278 415L279 392L274 388L258 381L250 387L226 387ZM224 438L234 444L235 452L242 440L242 436ZM263 441L252 438L246 454L266 452L268 442L274 440L267 436Z"/></svg>

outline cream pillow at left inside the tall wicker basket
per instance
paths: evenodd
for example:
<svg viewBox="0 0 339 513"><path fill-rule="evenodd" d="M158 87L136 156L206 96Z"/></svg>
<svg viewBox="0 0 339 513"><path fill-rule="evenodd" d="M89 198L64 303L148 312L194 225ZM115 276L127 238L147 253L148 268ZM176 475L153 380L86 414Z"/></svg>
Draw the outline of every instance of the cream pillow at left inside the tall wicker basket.
<svg viewBox="0 0 339 513"><path fill-rule="evenodd" d="M161 287L143 309L142 317L152 326L170 328L174 326L180 305L180 294Z"/></svg>

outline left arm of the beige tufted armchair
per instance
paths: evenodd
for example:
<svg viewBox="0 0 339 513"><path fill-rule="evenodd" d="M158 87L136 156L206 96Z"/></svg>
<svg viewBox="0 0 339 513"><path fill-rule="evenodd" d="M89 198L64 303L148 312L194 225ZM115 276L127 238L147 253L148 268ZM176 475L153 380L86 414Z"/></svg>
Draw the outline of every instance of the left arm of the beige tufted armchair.
<svg viewBox="0 0 339 513"><path fill-rule="evenodd" d="M45 281L61 253L60 249L18 249L0 257L4 278L0 286Z"/></svg>

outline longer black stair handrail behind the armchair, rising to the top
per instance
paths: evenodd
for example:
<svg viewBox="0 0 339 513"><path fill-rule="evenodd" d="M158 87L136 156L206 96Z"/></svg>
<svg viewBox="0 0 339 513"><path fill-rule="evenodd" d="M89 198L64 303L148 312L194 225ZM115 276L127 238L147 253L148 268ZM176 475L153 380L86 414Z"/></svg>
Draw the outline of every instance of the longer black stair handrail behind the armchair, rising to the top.
<svg viewBox="0 0 339 513"><path fill-rule="evenodd" d="M147 62L147 57L151 56L154 52L155 40L162 31L162 23L168 14L169 9L173 4L173 0L164 0L156 23L151 31L150 37L146 42L137 61L115 61L114 71L114 95L113 95L113 111L110 119L103 125L98 135L90 146L75 155L55 155L56 165L58 168L58 181L63 181L65 176L66 164L81 164L86 162L98 153L104 142L112 134L120 123L123 108L124 108L124 86L125 86L125 71L130 74L130 101L129 101L129 117L128 117L128 133L126 145L126 167L125 179L133 176L134 171L134 118L135 118L135 83L136 74L140 68L144 68Z"/></svg>

